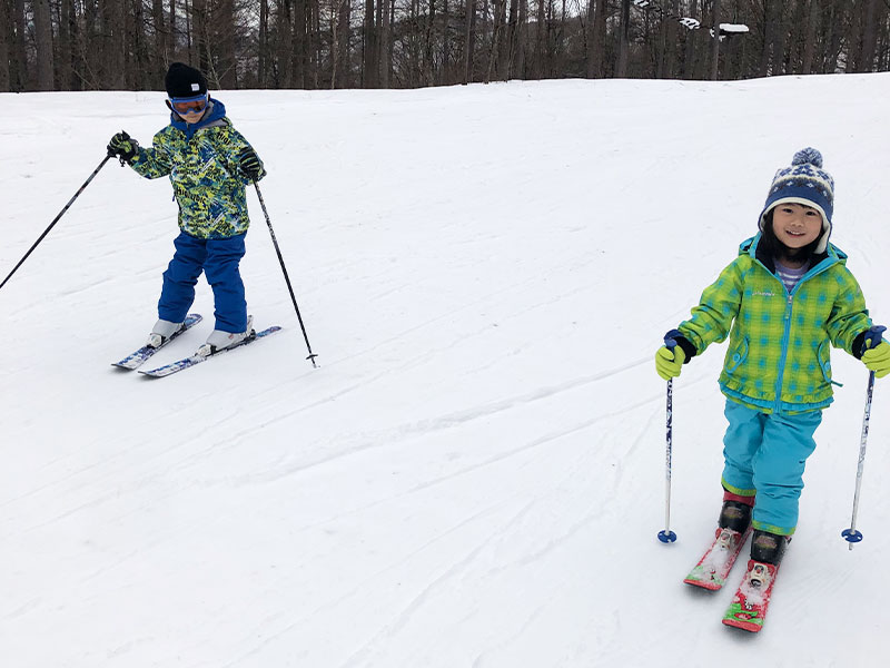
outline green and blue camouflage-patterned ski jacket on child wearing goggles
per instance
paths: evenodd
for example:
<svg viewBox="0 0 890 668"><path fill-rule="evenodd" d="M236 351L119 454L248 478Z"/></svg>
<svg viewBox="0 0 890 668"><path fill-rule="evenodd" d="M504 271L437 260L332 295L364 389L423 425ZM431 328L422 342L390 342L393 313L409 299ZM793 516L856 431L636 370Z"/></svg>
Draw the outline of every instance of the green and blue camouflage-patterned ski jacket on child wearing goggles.
<svg viewBox="0 0 890 668"><path fill-rule="evenodd" d="M171 122L130 160L146 178L170 177L179 205L179 228L194 237L224 238L247 232L245 186L237 156L250 145L212 101L208 119L197 127ZM178 126L178 127L177 127ZM265 176L265 170L260 178Z"/></svg>

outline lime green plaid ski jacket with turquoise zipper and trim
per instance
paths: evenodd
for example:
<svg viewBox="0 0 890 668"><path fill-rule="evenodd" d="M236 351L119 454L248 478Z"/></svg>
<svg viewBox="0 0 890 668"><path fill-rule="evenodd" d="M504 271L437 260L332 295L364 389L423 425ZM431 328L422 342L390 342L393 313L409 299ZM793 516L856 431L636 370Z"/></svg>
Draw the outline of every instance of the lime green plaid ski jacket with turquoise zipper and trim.
<svg viewBox="0 0 890 668"><path fill-rule="evenodd" d="M854 354L853 341L871 326L862 291L847 255L829 244L789 294L774 262L758 254L759 240L742 243L679 330L695 354L730 337L720 374L728 397L764 413L823 409L840 384L830 344Z"/></svg>

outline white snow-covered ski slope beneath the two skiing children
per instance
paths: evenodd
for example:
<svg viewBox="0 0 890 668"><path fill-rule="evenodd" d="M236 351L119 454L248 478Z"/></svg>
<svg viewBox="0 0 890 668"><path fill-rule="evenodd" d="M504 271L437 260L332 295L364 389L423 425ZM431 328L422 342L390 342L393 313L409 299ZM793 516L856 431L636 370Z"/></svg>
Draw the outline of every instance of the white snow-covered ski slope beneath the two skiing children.
<svg viewBox="0 0 890 668"><path fill-rule="evenodd" d="M16 668L882 666L890 382L818 432L759 636L682 578L720 505L722 350L674 396L665 330L814 146L832 240L890 322L887 75L218 95L254 143L319 369L255 193L241 268L285 331L179 375L141 344L172 253L166 179L109 163L0 291L0 656ZM0 275L161 94L0 95ZM190 353L206 321L159 353ZM738 579L741 569L732 581Z"/></svg>

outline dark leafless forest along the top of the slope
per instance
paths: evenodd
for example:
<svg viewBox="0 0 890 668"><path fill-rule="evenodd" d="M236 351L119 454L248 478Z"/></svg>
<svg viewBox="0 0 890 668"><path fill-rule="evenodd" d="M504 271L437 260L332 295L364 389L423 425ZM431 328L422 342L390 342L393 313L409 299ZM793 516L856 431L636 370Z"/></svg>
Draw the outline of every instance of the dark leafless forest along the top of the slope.
<svg viewBox="0 0 890 668"><path fill-rule="evenodd" d="M0 91L157 90L174 60L212 88L869 72L890 0L0 0Z"/></svg>

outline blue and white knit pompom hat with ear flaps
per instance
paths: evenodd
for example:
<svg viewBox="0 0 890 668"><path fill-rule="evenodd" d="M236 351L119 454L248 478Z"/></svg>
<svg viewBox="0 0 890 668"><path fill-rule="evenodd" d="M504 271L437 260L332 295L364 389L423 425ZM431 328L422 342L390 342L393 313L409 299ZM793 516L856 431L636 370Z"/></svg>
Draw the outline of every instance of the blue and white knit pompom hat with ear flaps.
<svg viewBox="0 0 890 668"><path fill-rule="evenodd" d="M767 195L767 204L760 214L760 229L764 218L780 204L811 206L822 216L822 235L815 253L824 253L831 235L831 215L834 212L834 179L822 169L822 154L814 148L804 148L794 154L790 167L775 173Z"/></svg>

